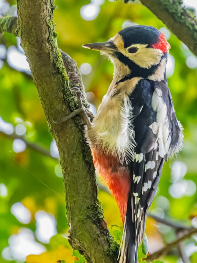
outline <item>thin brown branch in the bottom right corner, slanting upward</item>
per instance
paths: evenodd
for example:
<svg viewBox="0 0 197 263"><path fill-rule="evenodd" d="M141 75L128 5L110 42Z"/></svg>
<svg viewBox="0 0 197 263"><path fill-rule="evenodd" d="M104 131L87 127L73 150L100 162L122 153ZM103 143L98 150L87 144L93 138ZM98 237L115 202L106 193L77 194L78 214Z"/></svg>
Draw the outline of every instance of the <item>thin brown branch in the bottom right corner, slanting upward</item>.
<svg viewBox="0 0 197 263"><path fill-rule="evenodd" d="M197 228L190 228L189 231L186 231L185 234L183 234L181 237L179 237L177 240L168 243L165 247L163 247L162 249L159 249L158 251L156 251L155 253L149 255L146 259L148 260L148 262L159 258L161 255L166 254L167 252L169 252L172 248L174 248L175 246L179 245L179 243L181 243L182 241L184 241L187 238L190 238L192 235L197 233Z"/></svg>

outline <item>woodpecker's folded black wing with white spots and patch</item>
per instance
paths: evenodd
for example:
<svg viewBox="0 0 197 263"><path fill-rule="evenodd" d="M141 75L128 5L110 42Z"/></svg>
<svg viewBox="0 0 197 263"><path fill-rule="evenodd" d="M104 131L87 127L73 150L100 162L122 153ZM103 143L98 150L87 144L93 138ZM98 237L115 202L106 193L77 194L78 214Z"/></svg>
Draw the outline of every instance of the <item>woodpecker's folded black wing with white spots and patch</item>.
<svg viewBox="0 0 197 263"><path fill-rule="evenodd" d="M165 81L161 85L161 82L158 84L154 81L141 80L129 96L133 108L136 142L135 159L130 163L131 211L135 241L138 242L139 237L140 243L144 236L147 211L158 187L163 161L167 160L167 150L165 150L167 142L163 140L166 140L167 133L168 137L170 136L169 130L165 130L169 125L164 123L162 127L158 115L162 106L162 110L166 110L163 114L166 114L169 121L172 104L166 103L163 99L166 96L163 89L165 92L169 91ZM155 107L152 106L153 100L156 101ZM153 124L155 129L152 128ZM165 138L162 133L165 134L163 135ZM161 156L160 152L162 152Z"/></svg>

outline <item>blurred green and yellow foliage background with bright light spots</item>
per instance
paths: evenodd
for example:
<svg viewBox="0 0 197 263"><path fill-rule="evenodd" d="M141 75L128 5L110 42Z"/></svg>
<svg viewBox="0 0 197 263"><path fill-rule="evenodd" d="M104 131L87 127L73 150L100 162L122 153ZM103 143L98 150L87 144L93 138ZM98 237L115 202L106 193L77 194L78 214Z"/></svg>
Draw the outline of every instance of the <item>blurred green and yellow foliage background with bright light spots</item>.
<svg viewBox="0 0 197 263"><path fill-rule="evenodd" d="M112 80L113 65L82 44L107 41L124 27L157 27L171 44L168 83L176 115L184 126L184 148L164 164L150 212L197 227L197 59L164 24L139 2L56 0L58 45L76 60L91 109L95 113ZM185 0L193 14L197 4ZM0 0L1 15L17 15L15 0ZM31 32L30 32L31 33ZM98 179L99 180L99 179ZM99 189L108 227L120 240L122 226L115 200ZM0 262L84 262L68 244L68 225L58 150L30 75L19 39L0 38ZM150 253L176 239L173 228L147 220ZM185 240L191 262L197 262L197 235ZM71 256L73 253L73 256ZM41 254L41 255L40 255ZM39 255L39 256L38 256ZM26 258L27 257L27 258ZM181 263L177 249L161 257Z"/></svg>

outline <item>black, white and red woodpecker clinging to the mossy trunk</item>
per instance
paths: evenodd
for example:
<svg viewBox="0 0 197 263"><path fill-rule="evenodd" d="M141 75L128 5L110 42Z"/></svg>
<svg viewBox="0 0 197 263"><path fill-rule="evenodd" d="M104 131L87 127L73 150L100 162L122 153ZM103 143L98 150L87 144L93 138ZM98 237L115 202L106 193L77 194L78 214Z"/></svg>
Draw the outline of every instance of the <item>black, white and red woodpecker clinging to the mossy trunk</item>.
<svg viewBox="0 0 197 263"><path fill-rule="evenodd" d="M155 27L138 25L83 47L107 54L114 64L113 80L86 137L123 221L119 262L136 263L163 162L183 145L166 77L170 45Z"/></svg>

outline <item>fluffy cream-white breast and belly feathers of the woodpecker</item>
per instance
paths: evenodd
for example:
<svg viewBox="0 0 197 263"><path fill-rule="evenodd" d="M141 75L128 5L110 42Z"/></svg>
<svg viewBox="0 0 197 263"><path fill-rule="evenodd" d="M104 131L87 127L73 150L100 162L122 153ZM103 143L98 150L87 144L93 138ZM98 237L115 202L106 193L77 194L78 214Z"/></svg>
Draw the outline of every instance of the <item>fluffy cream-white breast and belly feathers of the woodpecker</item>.
<svg viewBox="0 0 197 263"><path fill-rule="evenodd" d="M138 80L139 78L133 81L133 84L136 85ZM103 154L118 157L120 164L128 164L134 158L133 114L127 94L131 93L131 88L135 85L128 85L128 90L125 87L109 88L91 127L86 131L92 148L103 151Z"/></svg>

